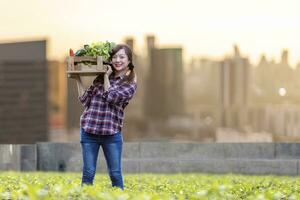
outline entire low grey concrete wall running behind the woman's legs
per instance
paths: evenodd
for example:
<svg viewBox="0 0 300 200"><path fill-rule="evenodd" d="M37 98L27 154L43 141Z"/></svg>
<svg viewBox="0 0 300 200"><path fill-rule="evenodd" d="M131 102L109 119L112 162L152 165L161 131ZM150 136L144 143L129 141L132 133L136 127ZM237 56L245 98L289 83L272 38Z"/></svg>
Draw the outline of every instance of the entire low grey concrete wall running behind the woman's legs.
<svg viewBox="0 0 300 200"><path fill-rule="evenodd" d="M180 143L123 144L124 173L242 173L299 175L298 143ZM0 145L0 170L82 171L80 143L42 142ZM97 172L106 172L99 152Z"/></svg>

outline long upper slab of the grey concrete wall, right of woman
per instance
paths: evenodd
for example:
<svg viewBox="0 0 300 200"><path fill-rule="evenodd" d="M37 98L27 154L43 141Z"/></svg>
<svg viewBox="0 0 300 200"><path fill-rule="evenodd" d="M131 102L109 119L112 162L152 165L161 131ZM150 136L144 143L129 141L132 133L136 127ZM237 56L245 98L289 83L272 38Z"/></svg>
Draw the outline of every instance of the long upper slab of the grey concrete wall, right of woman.
<svg viewBox="0 0 300 200"><path fill-rule="evenodd" d="M272 143L167 143L142 142L142 158L262 158L275 157Z"/></svg>

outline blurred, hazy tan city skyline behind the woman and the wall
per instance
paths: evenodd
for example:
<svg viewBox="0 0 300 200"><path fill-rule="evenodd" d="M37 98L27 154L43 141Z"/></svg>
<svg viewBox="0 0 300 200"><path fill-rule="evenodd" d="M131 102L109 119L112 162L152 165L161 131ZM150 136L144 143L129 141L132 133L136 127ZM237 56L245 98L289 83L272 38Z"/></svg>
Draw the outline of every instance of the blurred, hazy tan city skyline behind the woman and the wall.
<svg viewBox="0 0 300 200"><path fill-rule="evenodd" d="M43 49L33 48L36 43L44 44ZM126 43L134 46L132 40L127 40ZM29 97L37 102L41 96L48 96L44 103L34 105L49 108L47 115L51 130L68 125L66 130L73 133L78 131L81 113L76 86L73 80L66 79L63 61L48 61L46 64L46 44L45 41L32 41L1 45L2 87L9 88L3 90L3 94L9 94L7 91L12 87L25 88L22 92L11 93L10 97L6 95L9 98L2 99L4 101L2 111L6 109L6 104L13 102L11 99L17 99L15 107L18 109L11 114L21 116L19 110L26 111L32 108L29 106ZM154 136L156 133L164 133L164 136L171 134L170 137L175 137L175 132L185 130L191 137L199 139L214 134L216 127L229 127L246 132L268 131L272 134L297 135L300 130L298 125L300 82L297 78L300 68L297 70L288 68L286 51L282 52L280 62L262 60L259 66L251 67L248 58L243 57L235 47L233 54L224 57L221 62L199 58L190 63L192 65L190 73L182 73L182 49L159 48L154 44L155 38L149 37L147 43L149 57L136 57L141 66L137 68L141 81L135 99L127 108L126 123L130 126L127 125L125 128L131 132L131 138L140 134L141 130L147 130L145 134L149 137L156 137ZM44 61L32 56L41 53ZM149 70L146 70L147 68ZM22 74L22 79L18 82L13 76L18 77L20 73L11 72L21 70L32 72ZM48 78L33 79L41 76ZM44 83L36 84L37 80ZM33 85L36 86L32 87ZM41 90L40 86L44 88ZM280 93L281 89L284 89L284 95ZM283 117L276 117L279 113ZM26 112L22 114L27 117L27 121L36 115L33 113L32 118L29 118ZM23 117L20 119L24 121ZM2 125L4 121L2 120ZM7 124L9 122L10 120L6 120ZM191 125L189 129L187 123ZM205 136L202 135L203 131L207 131ZM188 137L189 134L185 135Z"/></svg>

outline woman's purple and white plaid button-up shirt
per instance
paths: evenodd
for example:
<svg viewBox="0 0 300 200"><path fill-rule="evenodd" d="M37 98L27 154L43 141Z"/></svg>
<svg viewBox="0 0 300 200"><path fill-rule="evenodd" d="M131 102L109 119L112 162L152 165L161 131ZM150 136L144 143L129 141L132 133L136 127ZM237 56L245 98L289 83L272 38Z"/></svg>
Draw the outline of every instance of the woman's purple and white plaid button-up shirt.
<svg viewBox="0 0 300 200"><path fill-rule="evenodd" d="M133 97L136 83L122 83L123 77L110 78L110 88L104 91L103 84L93 83L79 101L85 107L80 126L86 132L98 135L113 135L121 132L124 108Z"/></svg>

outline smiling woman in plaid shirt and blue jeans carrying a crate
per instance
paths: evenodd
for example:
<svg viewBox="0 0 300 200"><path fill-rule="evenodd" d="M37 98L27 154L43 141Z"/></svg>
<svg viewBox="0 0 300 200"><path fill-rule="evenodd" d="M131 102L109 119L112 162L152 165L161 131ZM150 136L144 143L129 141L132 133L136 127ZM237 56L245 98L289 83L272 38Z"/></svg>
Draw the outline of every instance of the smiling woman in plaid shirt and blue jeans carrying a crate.
<svg viewBox="0 0 300 200"><path fill-rule="evenodd" d="M132 51L127 45L117 45L110 56L112 68L99 75L93 84L83 90L77 76L79 100L85 107L81 117L81 148L83 156L82 185L93 184L97 157L102 147L113 187L122 190L121 170L122 125L124 108L137 88L137 77L132 63ZM105 77L107 87L104 87Z"/></svg>

